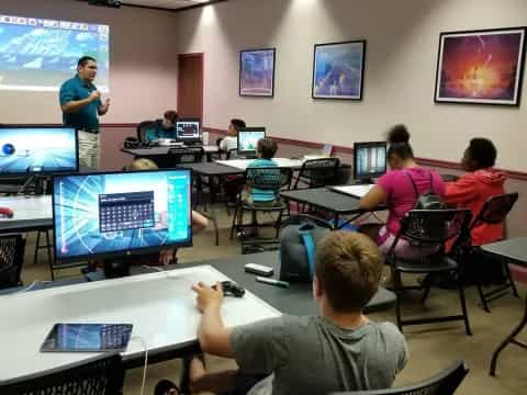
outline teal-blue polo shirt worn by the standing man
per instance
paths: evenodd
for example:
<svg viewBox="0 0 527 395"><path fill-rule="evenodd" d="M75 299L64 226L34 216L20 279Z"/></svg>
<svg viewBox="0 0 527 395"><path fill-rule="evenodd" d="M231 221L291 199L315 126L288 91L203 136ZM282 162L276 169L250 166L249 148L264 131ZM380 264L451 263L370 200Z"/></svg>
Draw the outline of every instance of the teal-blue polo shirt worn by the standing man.
<svg viewBox="0 0 527 395"><path fill-rule="evenodd" d="M59 101L64 105L70 101L87 99L91 92L96 91L93 83L83 81L78 75L67 80L60 87ZM101 100L93 100L90 104L75 113L63 112L63 123L77 129L94 132L99 131L99 106Z"/></svg>

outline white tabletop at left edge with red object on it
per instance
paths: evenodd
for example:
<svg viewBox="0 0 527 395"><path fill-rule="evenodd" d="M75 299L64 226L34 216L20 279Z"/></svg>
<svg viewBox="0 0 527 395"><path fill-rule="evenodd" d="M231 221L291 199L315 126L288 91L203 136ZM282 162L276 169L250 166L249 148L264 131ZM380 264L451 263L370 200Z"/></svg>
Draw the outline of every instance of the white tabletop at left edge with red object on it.
<svg viewBox="0 0 527 395"><path fill-rule="evenodd" d="M52 196L0 198L0 206L13 211L12 218L0 218L0 234L53 228Z"/></svg>

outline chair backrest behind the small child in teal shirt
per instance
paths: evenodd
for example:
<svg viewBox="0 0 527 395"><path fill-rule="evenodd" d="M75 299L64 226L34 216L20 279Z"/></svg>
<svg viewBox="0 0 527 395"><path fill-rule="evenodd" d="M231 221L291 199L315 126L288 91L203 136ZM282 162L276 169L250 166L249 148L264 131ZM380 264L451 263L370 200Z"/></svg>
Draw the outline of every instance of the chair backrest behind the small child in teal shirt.
<svg viewBox="0 0 527 395"><path fill-rule="evenodd" d="M293 170L279 167L255 167L245 170L245 184L261 191L274 191L291 188Z"/></svg>

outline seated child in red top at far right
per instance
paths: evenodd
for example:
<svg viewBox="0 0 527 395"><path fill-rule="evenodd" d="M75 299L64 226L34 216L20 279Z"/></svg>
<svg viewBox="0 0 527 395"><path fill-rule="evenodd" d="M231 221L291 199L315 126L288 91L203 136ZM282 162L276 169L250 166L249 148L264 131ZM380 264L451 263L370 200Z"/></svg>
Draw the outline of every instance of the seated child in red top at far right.
<svg viewBox="0 0 527 395"><path fill-rule="evenodd" d="M461 165L467 174L447 183L445 202L459 208L469 208L475 218L489 198L505 193L507 173L493 169L496 148L486 138L472 138ZM481 246L504 237L504 225L480 224L472 229L472 245Z"/></svg>

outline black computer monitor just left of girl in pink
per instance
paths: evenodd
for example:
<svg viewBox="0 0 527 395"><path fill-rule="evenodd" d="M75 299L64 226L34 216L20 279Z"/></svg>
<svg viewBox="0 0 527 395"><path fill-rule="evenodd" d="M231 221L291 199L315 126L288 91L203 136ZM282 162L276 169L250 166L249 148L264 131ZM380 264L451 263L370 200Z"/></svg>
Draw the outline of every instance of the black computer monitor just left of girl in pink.
<svg viewBox="0 0 527 395"><path fill-rule="evenodd" d="M386 172L386 143L370 142L354 145L354 178L371 183Z"/></svg>

